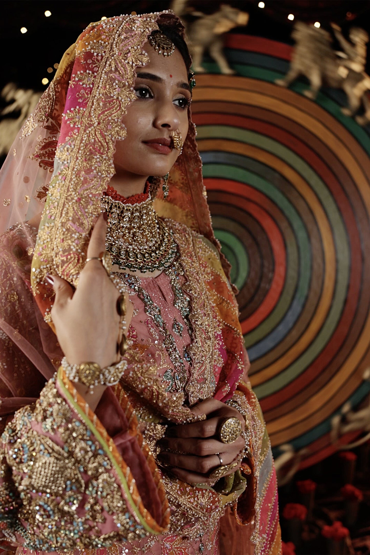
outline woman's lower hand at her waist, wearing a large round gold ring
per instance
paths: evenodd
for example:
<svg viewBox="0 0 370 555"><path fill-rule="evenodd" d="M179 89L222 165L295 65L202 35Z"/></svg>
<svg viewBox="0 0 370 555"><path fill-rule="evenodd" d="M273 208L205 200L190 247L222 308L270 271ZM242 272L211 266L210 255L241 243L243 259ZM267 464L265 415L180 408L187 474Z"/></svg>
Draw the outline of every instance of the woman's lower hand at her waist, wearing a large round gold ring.
<svg viewBox="0 0 370 555"><path fill-rule="evenodd" d="M196 415L207 415L207 420L169 427L166 437L158 443L161 448L158 458L166 466L170 466L171 473L180 480L191 484L210 484L215 480L209 478L209 474L221 466L216 453L220 454L222 465L230 465L244 448L244 438L241 436L233 443L220 441L218 431L222 422L225 418L239 418L244 430L244 418L236 408L215 399L206 399L192 407L191 411ZM225 473L225 476L239 467L240 463Z"/></svg>

